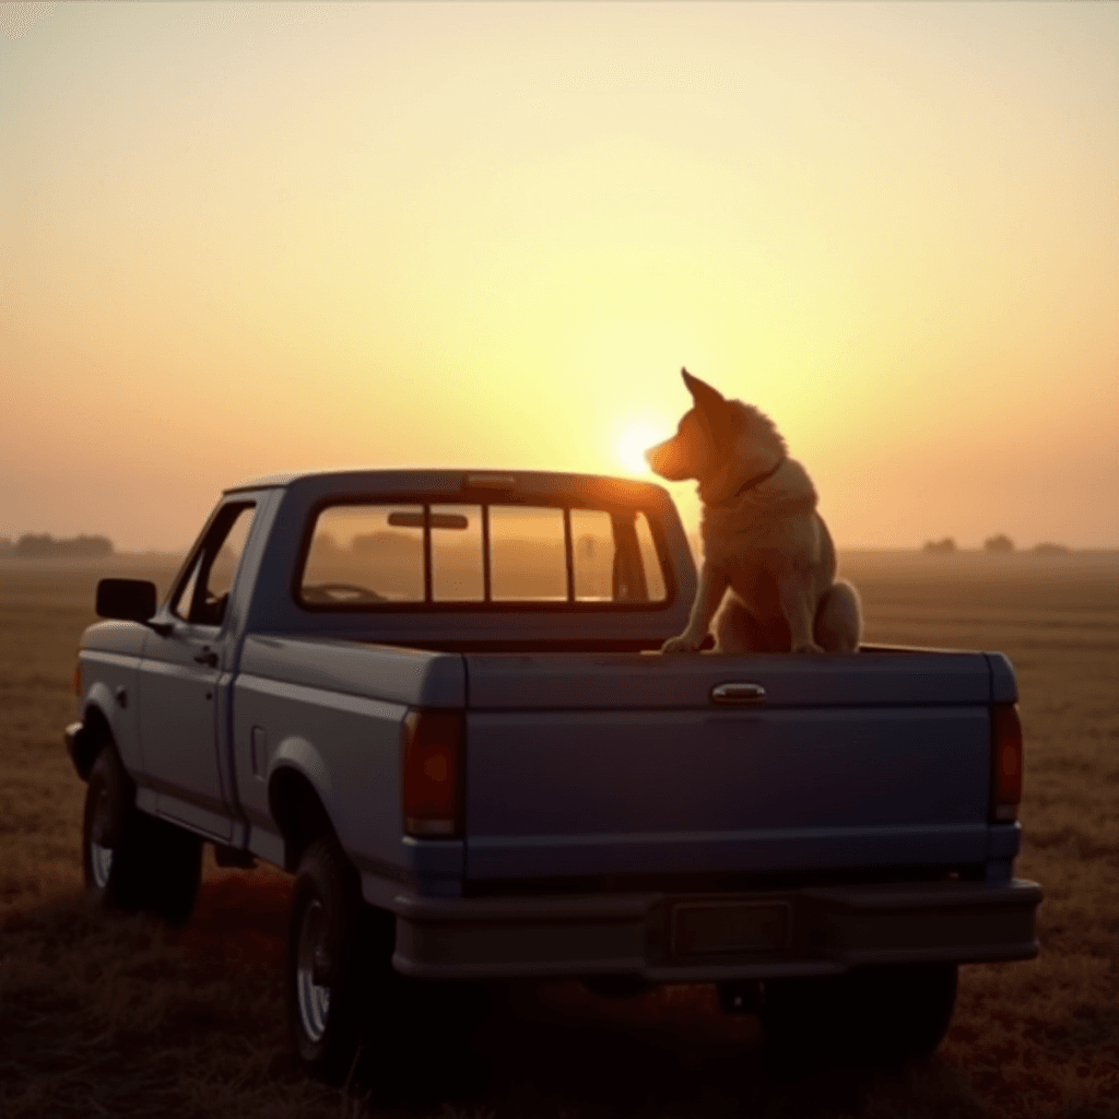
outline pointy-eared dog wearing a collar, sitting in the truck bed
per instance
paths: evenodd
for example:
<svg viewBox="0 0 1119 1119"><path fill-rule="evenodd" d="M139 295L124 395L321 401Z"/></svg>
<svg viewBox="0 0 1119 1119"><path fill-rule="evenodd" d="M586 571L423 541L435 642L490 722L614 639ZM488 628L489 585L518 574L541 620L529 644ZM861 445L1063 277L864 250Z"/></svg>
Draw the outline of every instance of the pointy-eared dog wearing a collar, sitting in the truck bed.
<svg viewBox="0 0 1119 1119"><path fill-rule="evenodd" d="M704 562L687 629L661 651L697 651L714 620L721 652L855 652L858 593L836 580L805 468L758 408L680 373L694 406L645 454L661 478L698 480Z"/></svg>

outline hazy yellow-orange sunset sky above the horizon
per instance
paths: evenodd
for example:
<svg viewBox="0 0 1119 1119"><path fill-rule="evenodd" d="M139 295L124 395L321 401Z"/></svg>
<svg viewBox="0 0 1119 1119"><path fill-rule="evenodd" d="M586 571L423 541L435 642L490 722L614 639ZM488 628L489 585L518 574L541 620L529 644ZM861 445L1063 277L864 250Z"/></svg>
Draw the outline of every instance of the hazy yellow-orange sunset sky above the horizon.
<svg viewBox="0 0 1119 1119"><path fill-rule="evenodd" d="M840 547L1119 546L1119 6L0 4L0 536L649 478L681 366Z"/></svg>

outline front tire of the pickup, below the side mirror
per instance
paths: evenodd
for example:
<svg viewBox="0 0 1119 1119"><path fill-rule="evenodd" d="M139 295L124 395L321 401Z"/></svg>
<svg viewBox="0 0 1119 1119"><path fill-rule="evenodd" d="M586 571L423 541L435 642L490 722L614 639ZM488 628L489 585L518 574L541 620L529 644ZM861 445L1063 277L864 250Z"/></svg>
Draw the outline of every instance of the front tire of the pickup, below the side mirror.
<svg viewBox="0 0 1119 1119"><path fill-rule="evenodd" d="M201 840L138 811L135 786L103 746L90 771L82 818L82 874L106 909L144 910L181 924L201 880Z"/></svg>

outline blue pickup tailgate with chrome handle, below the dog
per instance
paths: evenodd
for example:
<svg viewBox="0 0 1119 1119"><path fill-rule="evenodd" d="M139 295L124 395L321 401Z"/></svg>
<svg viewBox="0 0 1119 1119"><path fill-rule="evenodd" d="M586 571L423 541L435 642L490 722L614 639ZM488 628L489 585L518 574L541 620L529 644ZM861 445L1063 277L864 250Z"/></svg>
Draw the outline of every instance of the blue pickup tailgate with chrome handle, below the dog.
<svg viewBox="0 0 1119 1119"><path fill-rule="evenodd" d="M468 656L467 673L469 880L987 857L982 653Z"/></svg>

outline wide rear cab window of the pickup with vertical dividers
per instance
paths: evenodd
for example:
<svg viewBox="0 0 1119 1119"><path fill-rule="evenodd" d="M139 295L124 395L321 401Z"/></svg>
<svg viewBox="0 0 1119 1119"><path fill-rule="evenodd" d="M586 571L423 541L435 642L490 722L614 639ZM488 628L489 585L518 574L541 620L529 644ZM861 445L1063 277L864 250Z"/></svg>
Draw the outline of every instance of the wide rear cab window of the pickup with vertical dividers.
<svg viewBox="0 0 1119 1119"><path fill-rule="evenodd" d="M297 595L312 609L667 600L640 510L513 504L329 505L314 516Z"/></svg>

